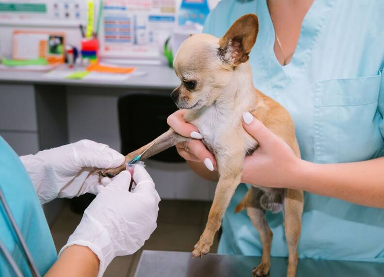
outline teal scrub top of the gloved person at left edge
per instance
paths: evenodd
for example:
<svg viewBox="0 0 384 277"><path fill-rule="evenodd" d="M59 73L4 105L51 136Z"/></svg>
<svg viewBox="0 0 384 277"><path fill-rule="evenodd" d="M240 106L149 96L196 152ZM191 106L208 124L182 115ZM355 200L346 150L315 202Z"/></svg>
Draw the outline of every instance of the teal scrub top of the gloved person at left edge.
<svg viewBox="0 0 384 277"><path fill-rule="evenodd" d="M28 245L36 266L43 276L57 259L57 252L43 209L32 181L12 148L0 136L0 186ZM23 276L32 277L16 233L0 203L0 240L12 255ZM15 276L0 251L0 276Z"/></svg>

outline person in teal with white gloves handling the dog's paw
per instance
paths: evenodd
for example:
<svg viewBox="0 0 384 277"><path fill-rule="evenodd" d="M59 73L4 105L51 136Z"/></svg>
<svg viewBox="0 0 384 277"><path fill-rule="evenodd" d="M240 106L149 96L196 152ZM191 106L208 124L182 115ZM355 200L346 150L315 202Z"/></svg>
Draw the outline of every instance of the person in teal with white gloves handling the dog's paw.
<svg viewBox="0 0 384 277"><path fill-rule="evenodd" d="M131 193L128 171L103 186L94 170L118 167L124 160L91 140L19 158L0 137L0 192L5 199L0 203L0 276L102 276L114 257L143 246L156 228L159 210L151 177L135 167L137 186ZM97 196L58 258L41 204L86 192Z"/></svg>

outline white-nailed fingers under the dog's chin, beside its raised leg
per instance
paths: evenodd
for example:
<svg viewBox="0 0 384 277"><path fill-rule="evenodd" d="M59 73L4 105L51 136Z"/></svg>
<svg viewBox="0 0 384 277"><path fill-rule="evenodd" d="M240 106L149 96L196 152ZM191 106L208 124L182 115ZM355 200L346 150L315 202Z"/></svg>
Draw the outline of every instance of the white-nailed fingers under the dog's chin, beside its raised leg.
<svg viewBox="0 0 384 277"><path fill-rule="evenodd" d="M192 138L188 142L180 142L176 144L177 153L187 161L203 162L204 165L213 171L216 168L216 161L207 147L201 142L203 139L199 131L191 123L187 123L184 114L187 110L180 109L171 114L168 119L168 125L175 130L176 133L183 137Z"/></svg>

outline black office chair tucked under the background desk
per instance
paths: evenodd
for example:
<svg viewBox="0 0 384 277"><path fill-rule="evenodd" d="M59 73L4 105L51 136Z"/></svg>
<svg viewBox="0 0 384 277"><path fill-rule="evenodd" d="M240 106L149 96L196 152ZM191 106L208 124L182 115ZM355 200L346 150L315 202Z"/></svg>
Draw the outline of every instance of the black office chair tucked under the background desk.
<svg viewBox="0 0 384 277"><path fill-rule="evenodd" d="M156 139L169 129L167 117L177 110L169 93L129 92L118 99L121 153L126 155ZM150 159L185 162L171 147Z"/></svg>

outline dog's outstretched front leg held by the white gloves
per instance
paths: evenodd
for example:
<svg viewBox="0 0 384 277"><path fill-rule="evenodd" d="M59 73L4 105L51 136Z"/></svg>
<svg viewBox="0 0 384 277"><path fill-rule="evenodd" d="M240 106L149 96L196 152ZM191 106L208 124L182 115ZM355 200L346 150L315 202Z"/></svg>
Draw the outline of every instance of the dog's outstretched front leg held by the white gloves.
<svg viewBox="0 0 384 277"><path fill-rule="evenodd" d="M183 137L179 134L177 134L173 129L169 129L165 133L161 134L157 139L152 140L148 144L144 145L143 147L139 148L138 150L135 150L128 155L125 156L126 160L125 162L129 162L134 157L136 157L139 154L142 154L145 150L148 149L141 157L141 159L149 158L155 154L160 153L161 151L164 151L172 146L174 146L176 143L182 142L182 141L188 141L190 138ZM154 144L153 144L154 143ZM153 145L152 145L153 144ZM117 174L119 174L121 171L125 170L126 166L125 164L115 168L115 169L104 169L100 170L100 175L103 177L113 177Z"/></svg>

